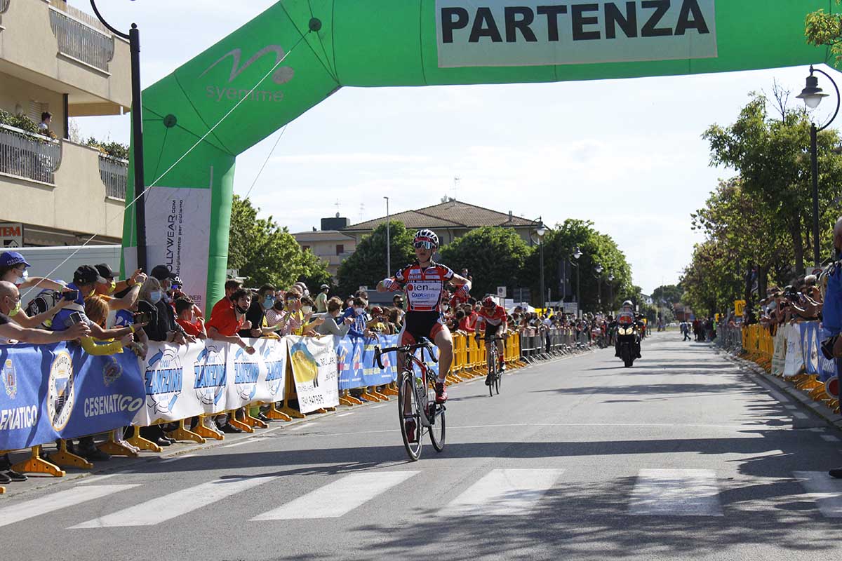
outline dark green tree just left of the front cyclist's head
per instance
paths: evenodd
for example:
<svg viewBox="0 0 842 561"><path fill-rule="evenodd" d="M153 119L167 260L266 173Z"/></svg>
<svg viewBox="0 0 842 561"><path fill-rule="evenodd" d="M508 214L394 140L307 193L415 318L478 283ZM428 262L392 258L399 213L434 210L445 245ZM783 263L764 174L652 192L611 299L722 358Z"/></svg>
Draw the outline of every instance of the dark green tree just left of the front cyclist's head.
<svg viewBox="0 0 842 561"><path fill-rule="evenodd" d="M392 272L415 261L413 250L414 231L407 230L402 222L393 220L389 228L389 246L392 249ZM360 286L376 287L386 277L386 223L377 226L369 236L357 244L354 255L339 265L337 273L339 292L342 296L354 294Z"/></svg>

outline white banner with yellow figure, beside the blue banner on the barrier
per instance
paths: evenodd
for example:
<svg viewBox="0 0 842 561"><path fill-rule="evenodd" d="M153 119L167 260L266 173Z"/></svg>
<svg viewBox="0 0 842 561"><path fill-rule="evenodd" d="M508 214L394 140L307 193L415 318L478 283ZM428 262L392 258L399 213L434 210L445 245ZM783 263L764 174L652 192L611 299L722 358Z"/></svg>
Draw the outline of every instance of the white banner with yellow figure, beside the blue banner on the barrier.
<svg viewBox="0 0 842 561"><path fill-rule="evenodd" d="M298 410L309 413L339 405L336 347L333 337L285 337L290 347Z"/></svg>

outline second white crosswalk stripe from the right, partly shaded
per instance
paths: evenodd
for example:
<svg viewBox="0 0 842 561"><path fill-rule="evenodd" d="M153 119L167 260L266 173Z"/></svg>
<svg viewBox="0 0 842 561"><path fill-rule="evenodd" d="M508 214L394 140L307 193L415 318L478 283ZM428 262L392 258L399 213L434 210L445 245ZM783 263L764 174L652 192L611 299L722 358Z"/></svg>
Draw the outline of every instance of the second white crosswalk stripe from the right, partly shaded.
<svg viewBox="0 0 842 561"><path fill-rule="evenodd" d="M642 469L629 501L633 516L723 516L710 469Z"/></svg>

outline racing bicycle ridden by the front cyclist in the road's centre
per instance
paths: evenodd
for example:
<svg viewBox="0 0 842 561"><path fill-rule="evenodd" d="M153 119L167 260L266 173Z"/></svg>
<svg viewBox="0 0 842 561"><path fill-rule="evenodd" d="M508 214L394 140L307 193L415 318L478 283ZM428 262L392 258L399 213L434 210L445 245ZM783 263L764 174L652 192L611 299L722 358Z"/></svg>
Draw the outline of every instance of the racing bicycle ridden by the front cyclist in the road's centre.
<svg viewBox="0 0 842 561"><path fill-rule="evenodd" d="M415 351L421 349L421 357L415 356ZM401 425L403 447L407 449L409 459L413 462L421 457L421 446L424 434L429 434L430 442L436 452L445 448L445 410L444 404L435 402L433 389L434 377L424 363L424 351L436 362L433 354L433 344L422 338L414 345L400 347L375 347L374 359L381 370L385 370L381 357L386 352L403 353L401 373L397 377L397 414ZM418 367L418 373L415 368ZM410 442L407 421L414 421L414 442Z"/></svg>

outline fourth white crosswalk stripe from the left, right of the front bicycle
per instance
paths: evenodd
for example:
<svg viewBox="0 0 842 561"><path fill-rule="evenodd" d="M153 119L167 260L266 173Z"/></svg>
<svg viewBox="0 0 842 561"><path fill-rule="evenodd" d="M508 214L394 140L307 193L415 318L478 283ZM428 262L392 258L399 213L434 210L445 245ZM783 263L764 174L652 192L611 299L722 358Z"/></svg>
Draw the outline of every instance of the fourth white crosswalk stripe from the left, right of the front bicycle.
<svg viewBox="0 0 842 561"><path fill-rule="evenodd" d="M450 501L440 516L529 514L564 473L563 469L493 469Z"/></svg>

